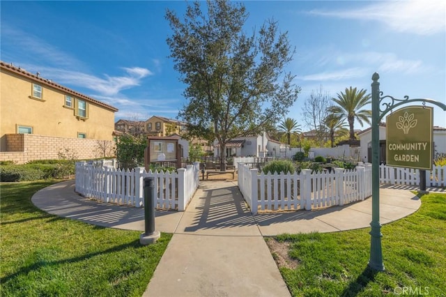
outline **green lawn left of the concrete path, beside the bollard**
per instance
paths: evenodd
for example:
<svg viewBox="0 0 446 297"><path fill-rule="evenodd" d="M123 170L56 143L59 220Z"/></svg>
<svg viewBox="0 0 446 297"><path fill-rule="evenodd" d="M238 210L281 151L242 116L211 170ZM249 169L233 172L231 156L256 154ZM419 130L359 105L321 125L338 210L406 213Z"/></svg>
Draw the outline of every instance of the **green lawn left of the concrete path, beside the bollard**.
<svg viewBox="0 0 446 297"><path fill-rule="evenodd" d="M141 296L171 234L97 227L40 211L31 196L55 181L1 183L0 296Z"/></svg>

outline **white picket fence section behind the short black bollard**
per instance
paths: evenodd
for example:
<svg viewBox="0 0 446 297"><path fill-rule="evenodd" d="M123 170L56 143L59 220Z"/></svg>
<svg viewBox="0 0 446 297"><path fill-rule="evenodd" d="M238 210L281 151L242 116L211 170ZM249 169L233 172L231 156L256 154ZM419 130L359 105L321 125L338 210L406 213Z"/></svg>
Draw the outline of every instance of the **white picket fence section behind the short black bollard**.
<svg viewBox="0 0 446 297"><path fill-rule="evenodd" d="M155 208L185 211L199 185L199 162L177 173L146 172L76 163L76 192L84 197L128 206L144 206L144 178L154 178Z"/></svg>

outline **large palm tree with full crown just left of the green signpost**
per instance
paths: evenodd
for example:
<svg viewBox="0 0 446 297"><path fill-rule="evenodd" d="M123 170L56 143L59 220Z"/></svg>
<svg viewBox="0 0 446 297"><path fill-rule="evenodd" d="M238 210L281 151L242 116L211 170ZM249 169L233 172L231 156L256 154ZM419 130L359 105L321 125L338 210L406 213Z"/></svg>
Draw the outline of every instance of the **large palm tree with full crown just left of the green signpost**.
<svg viewBox="0 0 446 297"><path fill-rule="evenodd" d="M357 91L356 88L350 87L346 88L345 93L337 93L337 98L332 98L337 105L328 107L328 111L334 114L334 116L339 116L340 119L347 119L348 126L350 128L350 140L355 140L355 119L362 126L362 122L370 124L371 110L362 109L365 105L371 103L371 95L366 95L366 90L361 89Z"/></svg>

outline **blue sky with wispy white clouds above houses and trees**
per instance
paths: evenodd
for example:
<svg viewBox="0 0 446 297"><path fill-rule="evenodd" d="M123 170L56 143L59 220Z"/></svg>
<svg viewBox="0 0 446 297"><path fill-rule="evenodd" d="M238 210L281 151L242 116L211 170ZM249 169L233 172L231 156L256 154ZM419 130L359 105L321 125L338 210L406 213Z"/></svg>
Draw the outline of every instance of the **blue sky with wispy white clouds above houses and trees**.
<svg viewBox="0 0 446 297"><path fill-rule="evenodd" d="M305 125L302 106L322 86L446 104L446 1L243 1L245 31L273 18L295 46L286 70L302 93L288 116ZM201 2L202 6L206 2ZM1 1L1 61L119 109L118 119L175 118L185 100L166 38L166 9L185 1ZM434 124L446 112L434 108ZM367 125L355 128L367 128ZM305 130L305 129L304 129Z"/></svg>

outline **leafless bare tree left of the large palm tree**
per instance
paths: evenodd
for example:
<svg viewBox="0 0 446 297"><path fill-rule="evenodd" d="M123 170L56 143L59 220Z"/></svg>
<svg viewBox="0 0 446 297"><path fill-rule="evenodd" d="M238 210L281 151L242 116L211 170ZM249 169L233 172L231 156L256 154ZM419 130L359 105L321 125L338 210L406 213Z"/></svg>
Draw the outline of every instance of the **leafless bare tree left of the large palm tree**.
<svg viewBox="0 0 446 297"><path fill-rule="evenodd" d="M316 139L319 145L323 145L325 131L323 130L325 118L329 112L328 107L332 106L332 98L328 91L324 91L322 85L318 90L312 90L312 94L305 100L302 109L304 122L309 128L316 132Z"/></svg>

